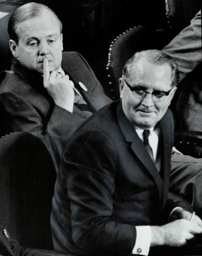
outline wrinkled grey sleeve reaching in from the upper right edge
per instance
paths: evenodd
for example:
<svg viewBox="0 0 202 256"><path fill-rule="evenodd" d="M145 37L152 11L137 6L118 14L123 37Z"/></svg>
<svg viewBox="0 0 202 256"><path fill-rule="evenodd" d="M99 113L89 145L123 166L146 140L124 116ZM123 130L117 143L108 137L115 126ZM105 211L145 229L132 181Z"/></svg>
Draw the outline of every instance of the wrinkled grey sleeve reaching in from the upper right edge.
<svg viewBox="0 0 202 256"><path fill-rule="evenodd" d="M162 51L177 62L180 80L201 62L201 11Z"/></svg>

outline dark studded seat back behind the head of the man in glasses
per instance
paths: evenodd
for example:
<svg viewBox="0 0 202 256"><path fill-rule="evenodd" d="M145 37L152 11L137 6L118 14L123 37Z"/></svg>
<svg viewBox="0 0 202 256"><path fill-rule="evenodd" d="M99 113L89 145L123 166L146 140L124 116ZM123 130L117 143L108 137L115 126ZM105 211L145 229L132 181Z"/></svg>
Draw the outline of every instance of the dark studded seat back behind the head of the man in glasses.
<svg viewBox="0 0 202 256"><path fill-rule="evenodd" d="M125 61L137 51L161 49L168 41L168 33L148 26L130 28L112 41L106 69L113 100L119 98L119 77Z"/></svg>

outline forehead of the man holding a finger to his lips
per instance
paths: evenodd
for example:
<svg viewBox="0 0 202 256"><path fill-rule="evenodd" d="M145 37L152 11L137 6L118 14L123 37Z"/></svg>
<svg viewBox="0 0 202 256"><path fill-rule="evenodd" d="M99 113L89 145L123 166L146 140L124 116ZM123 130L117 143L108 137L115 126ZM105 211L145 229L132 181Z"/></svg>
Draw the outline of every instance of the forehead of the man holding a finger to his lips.
<svg viewBox="0 0 202 256"><path fill-rule="evenodd" d="M27 19L17 24L16 28L19 38L33 36L48 36L60 34L60 26L56 17L48 11L43 11L40 15Z"/></svg>

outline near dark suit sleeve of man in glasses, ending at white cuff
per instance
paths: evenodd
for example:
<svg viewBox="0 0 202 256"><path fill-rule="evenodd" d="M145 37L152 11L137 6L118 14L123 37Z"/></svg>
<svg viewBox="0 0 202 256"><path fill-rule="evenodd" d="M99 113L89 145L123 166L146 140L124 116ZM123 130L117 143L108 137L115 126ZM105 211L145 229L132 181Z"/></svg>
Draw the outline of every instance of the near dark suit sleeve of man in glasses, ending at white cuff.
<svg viewBox="0 0 202 256"><path fill-rule="evenodd" d="M86 254L132 254L135 226L113 218L117 157L114 143L105 134L92 130L74 140L65 152L61 171L66 177L75 244Z"/></svg>

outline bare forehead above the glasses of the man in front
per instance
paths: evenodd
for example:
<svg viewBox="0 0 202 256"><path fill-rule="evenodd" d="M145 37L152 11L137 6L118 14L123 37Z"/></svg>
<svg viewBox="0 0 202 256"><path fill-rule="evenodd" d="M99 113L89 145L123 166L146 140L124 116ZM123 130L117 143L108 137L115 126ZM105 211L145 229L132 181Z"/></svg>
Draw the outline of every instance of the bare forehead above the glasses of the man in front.
<svg viewBox="0 0 202 256"><path fill-rule="evenodd" d="M128 79L132 85L140 84L156 89L171 87L172 69L169 64L153 64L140 60L128 70Z"/></svg>

